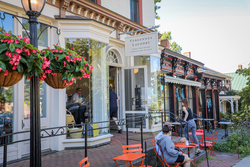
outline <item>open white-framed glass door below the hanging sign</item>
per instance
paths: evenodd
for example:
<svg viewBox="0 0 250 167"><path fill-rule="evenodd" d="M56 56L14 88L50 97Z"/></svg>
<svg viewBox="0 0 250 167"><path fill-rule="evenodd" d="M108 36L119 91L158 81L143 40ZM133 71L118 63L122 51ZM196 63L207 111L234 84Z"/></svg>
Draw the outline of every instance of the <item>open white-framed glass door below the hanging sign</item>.
<svg viewBox="0 0 250 167"><path fill-rule="evenodd" d="M147 66L123 68L123 118L148 114ZM129 131L140 131L140 119L129 120ZM148 119L143 128L148 131Z"/></svg>

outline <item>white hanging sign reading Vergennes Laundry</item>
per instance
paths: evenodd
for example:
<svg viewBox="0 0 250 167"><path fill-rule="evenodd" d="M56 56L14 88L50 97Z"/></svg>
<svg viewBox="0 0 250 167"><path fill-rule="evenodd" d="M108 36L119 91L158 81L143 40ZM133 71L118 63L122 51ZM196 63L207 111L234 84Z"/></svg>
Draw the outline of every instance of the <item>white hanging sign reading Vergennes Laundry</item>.
<svg viewBox="0 0 250 167"><path fill-rule="evenodd" d="M158 53L158 32L134 35L125 39L125 56L145 56Z"/></svg>

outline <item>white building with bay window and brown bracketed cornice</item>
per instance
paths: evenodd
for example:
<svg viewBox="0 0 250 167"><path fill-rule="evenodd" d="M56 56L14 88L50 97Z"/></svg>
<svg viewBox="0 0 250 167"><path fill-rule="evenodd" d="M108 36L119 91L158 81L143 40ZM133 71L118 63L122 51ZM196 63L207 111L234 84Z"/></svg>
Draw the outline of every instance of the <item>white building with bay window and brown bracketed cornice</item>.
<svg viewBox="0 0 250 167"><path fill-rule="evenodd" d="M11 15L23 18L19 20L29 30L27 15L20 0L0 0L0 13L7 12L2 28L15 35L27 37L22 25ZM3 15L2 15L3 16ZM94 66L91 79L77 81L64 90L56 90L41 83L41 129L66 125L66 107L75 89L82 89L86 99L83 111L86 114L76 121L97 122L109 119L108 85L114 85L119 98L118 118L135 114L160 111L160 50L158 53L141 56L125 55L125 38L119 33L145 29L154 26L154 0L47 0L39 17L38 33L47 25L61 30L57 35L54 28L46 29L39 39L39 49L53 47L59 43L62 47L74 47L79 54L87 57ZM129 35L142 35L153 30L141 31ZM159 88L159 89L158 89ZM13 92L13 93L12 93ZM4 88L2 94L2 115L10 114L12 123L4 124L1 134L28 131L29 120L29 82L21 80L13 87ZM4 96L5 95L5 96ZM70 109L69 109L70 110ZM153 123L145 122L145 131L155 128ZM107 124L95 124L104 127ZM134 128L134 129L133 129ZM136 128L136 129L135 129ZM7 129L7 130L6 130ZM133 124L130 130L138 130ZM45 134L44 132L42 132ZM89 145L110 142L109 129L90 134ZM10 141L29 138L29 133L15 135ZM63 150L66 147L84 146L84 138L71 139L66 136L43 138L42 150ZM2 150L0 153L3 153ZM8 146L8 161L29 154L29 142ZM0 159L2 155L0 155Z"/></svg>

